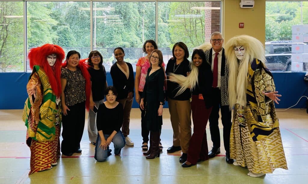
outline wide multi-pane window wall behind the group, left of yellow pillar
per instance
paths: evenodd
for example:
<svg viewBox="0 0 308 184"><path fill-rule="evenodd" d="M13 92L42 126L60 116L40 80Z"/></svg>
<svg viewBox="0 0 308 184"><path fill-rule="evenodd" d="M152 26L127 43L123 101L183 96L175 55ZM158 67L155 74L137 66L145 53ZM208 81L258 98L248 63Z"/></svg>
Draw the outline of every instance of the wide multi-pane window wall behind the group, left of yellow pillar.
<svg viewBox="0 0 308 184"><path fill-rule="evenodd" d="M221 31L220 1L25 0L0 5L0 72L30 72L27 53L45 43L61 46L66 54L77 50L81 58L99 50L107 71L115 63L114 48L122 47L124 60L135 70L148 39L156 41L167 63L174 43L184 42L191 54L213 31Z"/></svg>

